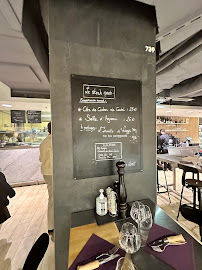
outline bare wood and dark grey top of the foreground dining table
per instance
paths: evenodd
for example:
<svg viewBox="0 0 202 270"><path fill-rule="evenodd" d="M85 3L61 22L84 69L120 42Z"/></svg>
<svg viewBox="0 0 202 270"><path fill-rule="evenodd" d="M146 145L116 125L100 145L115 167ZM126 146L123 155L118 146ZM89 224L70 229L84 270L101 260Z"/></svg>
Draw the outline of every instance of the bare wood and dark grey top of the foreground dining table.
<svg viewBox="0 0 202 270"><path fill-rule="evenodd" d="M185 239L190 239L192 243L192 252L195 264L195 270L200 270L202 266L202 245L198 240L193 238L187 231L185 231L179 224L169 217L156 203L150 199L139 200L151 209L153 222L156 226L162 226L171 230L175 234L182 234ZM132 202L129 203L132 205ZM114 220L114 222L98 226L96 224L95 210L86 210L72 213L71 216L71 230L69 242L69 263L76 259L77 255L83 249L85 243L90 236L95 233L103 239L111 242L114 245L119 243L119 231L125 222L134 222L131 217L122 220ZM159 227L160 228L160 227ZM156 256L140 248L136 253L130 255L134 265L138 270L172 270L169 264L158 259ZM106 268L107 269L107 268Z"/></svg>

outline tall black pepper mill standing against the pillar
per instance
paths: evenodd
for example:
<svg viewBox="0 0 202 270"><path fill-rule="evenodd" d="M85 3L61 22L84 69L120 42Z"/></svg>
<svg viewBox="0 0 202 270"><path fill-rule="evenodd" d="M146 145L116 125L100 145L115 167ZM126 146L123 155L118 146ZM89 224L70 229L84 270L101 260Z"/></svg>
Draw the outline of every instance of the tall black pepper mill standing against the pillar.
<svg viewBox="0 0 202 270"><path fill-rule="evenodd" d="M125 162L124 161L118 161L116 163L116 167L118 168L118 174L119 174L119 190L118 190L118 197L119 197L119 215L121 218L126 218L127 216L127 192L126 187L124 183L124 168L125 168Z"/></svg>

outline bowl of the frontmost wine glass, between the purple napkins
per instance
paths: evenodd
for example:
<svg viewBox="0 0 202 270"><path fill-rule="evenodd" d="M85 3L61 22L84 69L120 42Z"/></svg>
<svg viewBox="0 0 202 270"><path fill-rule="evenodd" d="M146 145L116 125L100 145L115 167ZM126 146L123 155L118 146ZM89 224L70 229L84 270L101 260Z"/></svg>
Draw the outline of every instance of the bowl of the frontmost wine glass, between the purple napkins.
<svg viewBox="0 0 202 270"><path fill-rule="evenodd" d="M141 238L135 225L130 222L126 222L122 225L119 235L119 244L122 249L129 254L135 253L140 249Z"/></svg>

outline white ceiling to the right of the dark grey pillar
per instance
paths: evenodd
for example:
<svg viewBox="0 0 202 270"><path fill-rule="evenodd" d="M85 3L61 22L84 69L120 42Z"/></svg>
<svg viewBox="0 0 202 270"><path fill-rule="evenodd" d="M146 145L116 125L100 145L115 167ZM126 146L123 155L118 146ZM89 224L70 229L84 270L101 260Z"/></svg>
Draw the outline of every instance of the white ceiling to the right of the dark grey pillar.
<svg viewBox="0 0 202 270"><path fill-rule="evenodd" d="M140 2L156 7L159 27L156 40L160 41L161 55L168 51L171 53L170 50L175 46L187 42L187 39L202 29L202 0L142 0ZM163 57L166 59L166 55ZM156 92L175 88L181 82L200 74L202 74L202 37L198 40L198 44L190 46L189 50L179 49L178 56L171 58L168 66L161 72L157 69ZM198 89L201 88L202 85L199 84Z"/></svg>

